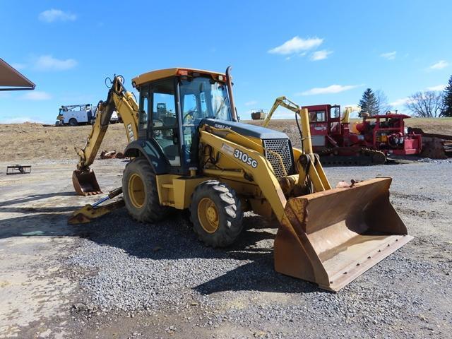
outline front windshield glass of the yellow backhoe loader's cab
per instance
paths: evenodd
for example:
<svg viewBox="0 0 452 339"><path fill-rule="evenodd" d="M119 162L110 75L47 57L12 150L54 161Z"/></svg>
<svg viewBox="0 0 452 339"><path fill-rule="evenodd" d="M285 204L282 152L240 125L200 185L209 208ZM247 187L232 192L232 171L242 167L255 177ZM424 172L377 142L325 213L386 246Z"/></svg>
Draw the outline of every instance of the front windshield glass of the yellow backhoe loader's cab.
<svg viewBox="0 0 452 339"><path fill-rule="evenodd" d="M184 124L204 118L232 121L225 84L198 77L182 80L179 89Z"/></svg>

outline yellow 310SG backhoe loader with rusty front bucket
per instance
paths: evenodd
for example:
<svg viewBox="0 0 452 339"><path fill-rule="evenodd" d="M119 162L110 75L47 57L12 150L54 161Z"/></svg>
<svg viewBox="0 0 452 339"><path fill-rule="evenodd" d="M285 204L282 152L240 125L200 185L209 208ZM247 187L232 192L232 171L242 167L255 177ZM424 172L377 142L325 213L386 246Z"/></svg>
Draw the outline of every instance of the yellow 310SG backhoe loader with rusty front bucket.
<svg viewBox="0 0 452 339"><path fill-rule="evenodd" d="M132 84L138 104L115 77L100 105L101 114L116 109L131 124L122 192L132 218L157 222L189 209L198 237L222 247L239 237L244 211L274 216L275 270L334 291L412 239L389 202L390 178L331 187L312 153L307 109L297 109L297 149L285 133L238 122L230 68L151 71ZM83 176L100 191L86 166L98 148L90 142L74 174L83 194Z"/></svg>

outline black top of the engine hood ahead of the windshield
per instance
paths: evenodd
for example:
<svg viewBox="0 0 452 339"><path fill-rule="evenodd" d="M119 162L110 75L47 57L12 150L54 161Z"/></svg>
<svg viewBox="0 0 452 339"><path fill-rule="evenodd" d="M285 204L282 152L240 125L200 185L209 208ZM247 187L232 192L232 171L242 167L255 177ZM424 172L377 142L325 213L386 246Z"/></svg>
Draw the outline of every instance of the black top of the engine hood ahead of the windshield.
<svg viewBox="0 0 452 339"><path fill-rule="evenodd" d="M225 121L218 119L203 119L201 125L206 124L217 129L231 129L242 136L249 136L259 139L288 139L286 133L278 132L273 129L266 129L265 127L244 124L242 122Z"/></svg>

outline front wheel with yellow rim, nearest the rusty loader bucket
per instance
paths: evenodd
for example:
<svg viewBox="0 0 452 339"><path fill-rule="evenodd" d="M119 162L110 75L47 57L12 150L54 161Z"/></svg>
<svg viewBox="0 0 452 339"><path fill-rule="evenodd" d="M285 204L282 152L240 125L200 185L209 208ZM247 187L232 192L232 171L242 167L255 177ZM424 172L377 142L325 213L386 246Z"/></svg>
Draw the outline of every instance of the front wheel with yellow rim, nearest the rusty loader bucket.
<svg viewBox="0 0 452 339"><path fill-rule="evenodd" d="M194 232L208 246L228 246L242 232L240 199L233 189L216 180L196 187L191 196L190 213Z"/></svg>

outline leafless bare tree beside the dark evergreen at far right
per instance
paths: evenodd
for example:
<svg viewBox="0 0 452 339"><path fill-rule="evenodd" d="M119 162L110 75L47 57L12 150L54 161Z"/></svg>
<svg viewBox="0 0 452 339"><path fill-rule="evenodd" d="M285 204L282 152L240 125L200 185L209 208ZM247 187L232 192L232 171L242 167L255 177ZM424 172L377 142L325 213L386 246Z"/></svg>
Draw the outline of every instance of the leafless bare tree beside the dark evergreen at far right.
<svg viewBox="0 0 452 339"><path fill-rule="evenodd" d="M405 107L416 117L436 118L441 114L443 97L441 92L428 90L426 92L417 92L408 97Z"/></svg>

